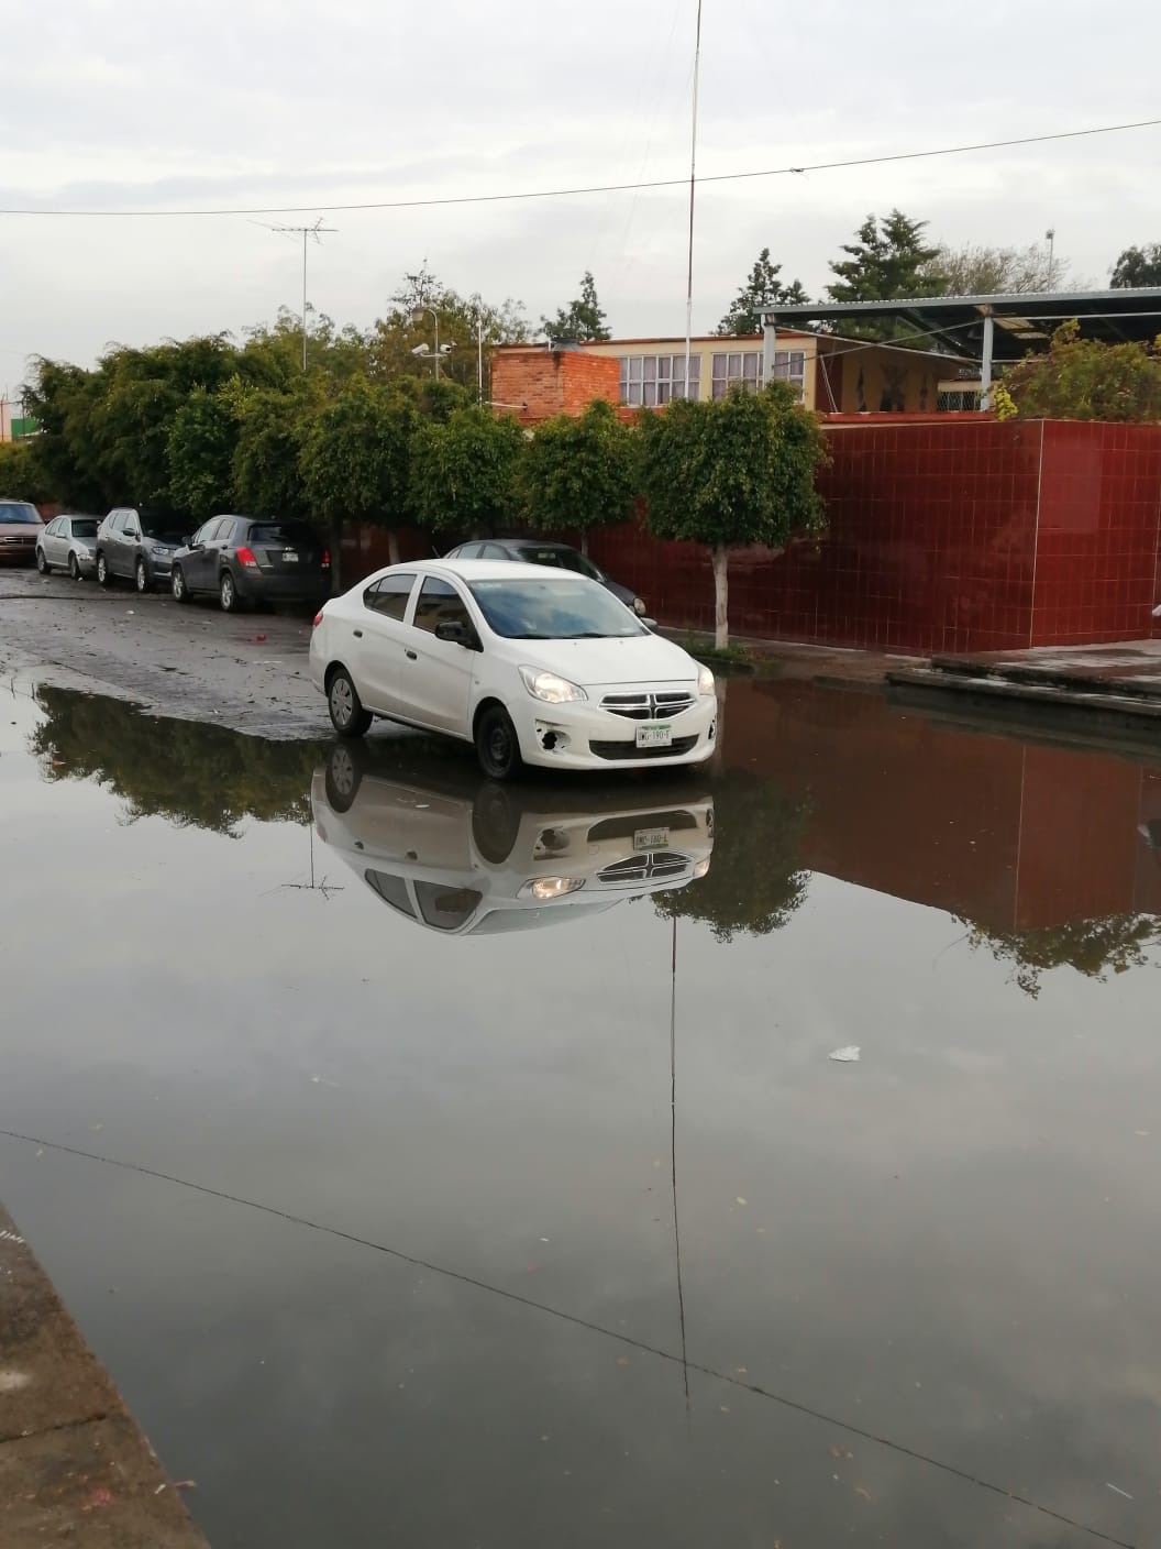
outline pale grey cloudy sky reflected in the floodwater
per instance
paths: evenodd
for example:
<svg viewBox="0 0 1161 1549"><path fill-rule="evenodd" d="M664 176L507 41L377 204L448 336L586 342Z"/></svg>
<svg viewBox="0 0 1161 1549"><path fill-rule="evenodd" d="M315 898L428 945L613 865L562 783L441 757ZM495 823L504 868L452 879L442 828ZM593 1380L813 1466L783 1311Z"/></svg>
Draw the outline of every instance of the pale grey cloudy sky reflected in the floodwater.
<svg viewBox="0 0 1161 1549"><path fill-rule="evenodd" d="M446 940L317 840L337 891L288 886L305 826L125 826L46 785L5 703L0 1128L467 1276L0 1140L5 1202L215 1549L1093 1541L738 1382L1156 1540L1156 953L1033 999L841 855L769 936L680 919L687 1408L641 1348L681 1352L655 903ZM768 847L726 816L745 891Z"/></svg>

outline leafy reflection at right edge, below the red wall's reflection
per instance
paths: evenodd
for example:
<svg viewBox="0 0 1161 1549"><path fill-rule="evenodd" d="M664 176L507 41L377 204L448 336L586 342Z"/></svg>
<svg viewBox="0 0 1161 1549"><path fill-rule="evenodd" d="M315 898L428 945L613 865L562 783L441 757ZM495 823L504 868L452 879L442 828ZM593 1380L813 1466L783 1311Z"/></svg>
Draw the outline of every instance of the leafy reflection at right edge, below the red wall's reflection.
<svg viewBox="0 0 1161 1549"><path fill-rule="evenodd" d="M1104 984L1110 973L1125 973L1147 962L1150 946L1161 945L1161 920L1155 914L1104 914L1068 925L1045 925L1033 931L988 931L971 920L972 948L986 946L997 962L1012 963L1011 979L1025 994L1040 994L1040 976L1068 965L1087 979Z"/></svg>

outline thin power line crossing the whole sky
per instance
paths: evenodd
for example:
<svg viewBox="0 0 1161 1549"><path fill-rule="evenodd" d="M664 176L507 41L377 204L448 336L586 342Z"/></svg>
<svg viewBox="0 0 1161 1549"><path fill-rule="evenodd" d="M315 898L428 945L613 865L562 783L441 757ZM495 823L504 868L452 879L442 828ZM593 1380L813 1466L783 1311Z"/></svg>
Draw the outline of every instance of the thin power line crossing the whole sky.
<svg viewBox="0 0 1161 1549"><path fill-rule="evenodd" d="M1093 129L1065 129L1048 135L1022 135L1015 139L981 139L969 146L938 146L930 150L896 150L885 156L851 156L845 161L814 161L794 167L763 167L755 172L715 172L700 183L741 183L751 178L803 177L808 172L842 172L851 167L881 167L898 161L924 161L932 156L964 156L980 150L1009 150L1019 146L1045 146L1051 141L1085 139L1093 135L1119 135L1132 129L1158 129L1161 118L1142 118L1132 124L1099 124ZM211 215L300 215L337 214L373 209L433 209L449 204L511 204L523 200L580 198L590 194L639 194L649 189L689 187L689 178L653 178L644 183L593 183L568 189L526 189L515 194L457 194L441 198L368 200L353 204L266 204L259 208L223 209L33 209L3 208L0 215L48 215L84 220L192 220Z"/></svg>

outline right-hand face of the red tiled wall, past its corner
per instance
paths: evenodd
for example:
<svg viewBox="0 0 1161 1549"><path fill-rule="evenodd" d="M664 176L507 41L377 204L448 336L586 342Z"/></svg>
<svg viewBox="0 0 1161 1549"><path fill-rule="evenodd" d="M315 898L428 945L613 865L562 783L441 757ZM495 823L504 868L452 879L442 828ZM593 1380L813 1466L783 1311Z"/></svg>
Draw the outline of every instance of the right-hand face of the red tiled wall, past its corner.
<svg viewBox="0 0 1161 1549"><path fill-rule="evenodd" d="M1149 637L1161 426L1057 420L1043 435L1033 644Z"/></svg>

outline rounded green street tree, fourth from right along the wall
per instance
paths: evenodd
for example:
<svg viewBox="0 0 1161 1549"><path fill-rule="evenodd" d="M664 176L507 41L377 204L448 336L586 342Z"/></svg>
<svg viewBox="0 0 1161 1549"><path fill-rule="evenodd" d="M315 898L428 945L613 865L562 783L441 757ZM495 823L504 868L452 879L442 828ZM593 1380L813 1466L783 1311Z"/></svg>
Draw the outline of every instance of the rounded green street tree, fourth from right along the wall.
<svg viewBox="0 0 1161 1549"><path fill-rule="evenodd" d="M300 468L311 510L330 522L333 555L345 520L367 522L387 530L390 561L398 564L416 418L406 397L354 376L311 420Z"/></svg>

